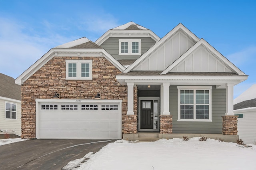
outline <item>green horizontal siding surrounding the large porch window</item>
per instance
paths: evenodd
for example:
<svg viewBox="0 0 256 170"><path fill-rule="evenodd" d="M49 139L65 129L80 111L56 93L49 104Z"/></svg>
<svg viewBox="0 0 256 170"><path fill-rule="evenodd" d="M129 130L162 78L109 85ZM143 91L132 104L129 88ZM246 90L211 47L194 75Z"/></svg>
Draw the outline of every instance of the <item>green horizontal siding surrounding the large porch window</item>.
<svg viewBox="0 0 256 170"><path fill-rule="evenodd" d="M178 122L178 89L169 87L169 110L172 115L173 133L222 134L222 116L226 112L226 89L212 86L212 122Z"/></svg>

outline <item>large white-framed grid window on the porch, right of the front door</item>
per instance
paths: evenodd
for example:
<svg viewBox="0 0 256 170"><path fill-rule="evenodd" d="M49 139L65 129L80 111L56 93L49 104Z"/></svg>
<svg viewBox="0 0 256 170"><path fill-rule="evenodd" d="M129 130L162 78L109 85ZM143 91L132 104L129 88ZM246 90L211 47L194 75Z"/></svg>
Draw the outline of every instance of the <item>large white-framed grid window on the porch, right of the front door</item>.
<svg viewBox="0 0 256 170"><path fill-rule="evenodd" d="M178 86L178 121L212 121L212 87Z"/></svg>

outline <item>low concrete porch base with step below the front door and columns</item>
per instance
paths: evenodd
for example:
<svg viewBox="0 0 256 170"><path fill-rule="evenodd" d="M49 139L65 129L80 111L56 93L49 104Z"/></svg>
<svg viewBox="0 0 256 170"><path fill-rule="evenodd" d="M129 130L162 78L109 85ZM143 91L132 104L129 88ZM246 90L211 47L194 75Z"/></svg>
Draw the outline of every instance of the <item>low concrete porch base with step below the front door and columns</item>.
<svg viewBox="0 0 256 170"><path fill-rule="evenodd" d="M183 136L188 136L188 138L194 137L207 137L215 140L223 139L224 142L236 142L238 135L225 135L225 134L186 134L186 133L176 133L176 134L160 134L160 132L137 132L136 134L124 134L124 140L130 141L140 141L140 142L152 142L159 139L172 139L172 138L183 138Z"/></svg>

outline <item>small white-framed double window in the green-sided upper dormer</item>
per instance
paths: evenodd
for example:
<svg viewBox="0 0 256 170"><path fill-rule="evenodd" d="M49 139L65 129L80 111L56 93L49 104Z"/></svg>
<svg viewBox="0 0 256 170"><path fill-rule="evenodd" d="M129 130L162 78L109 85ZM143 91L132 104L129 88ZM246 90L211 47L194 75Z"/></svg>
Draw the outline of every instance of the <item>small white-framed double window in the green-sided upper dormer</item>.
<svg viewBox="0 0 256 170"><path fill-rule="evenodd" d="M141 55L140 39L119 39L119 55Z"/></svg>

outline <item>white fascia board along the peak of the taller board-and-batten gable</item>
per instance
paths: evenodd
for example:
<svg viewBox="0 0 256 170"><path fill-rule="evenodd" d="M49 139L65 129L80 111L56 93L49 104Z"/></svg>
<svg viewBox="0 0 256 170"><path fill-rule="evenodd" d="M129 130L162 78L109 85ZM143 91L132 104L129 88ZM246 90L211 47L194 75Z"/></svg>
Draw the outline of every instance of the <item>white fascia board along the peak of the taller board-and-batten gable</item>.
<svg viewBox="0 0 256 170"><path fill-rule="evenodd" d="M170 36L173 36L173 34L178 31L179 29L184 30L184 32L186 32L190 37L192 37L196 42L200 41L200 39L195 36L190 30L188 30L185 26L183 26L181 23L178 24L175 28L173 28L168 34L166 34L161 40L159 40L158 42L156 42L150 49L148 49L148 51L146 51L142 56L140 56L136 61L134 61L134 63L132 63L129 67L126 68L126 70L124 70L124 73L128 73L129 71L131 71L132 69L134 69L134 67L137 66L138 63L142 62L146 57L148 57L148 55L150 55L150 53L152 53L152 51L154 51L154 49L158 48L162 43L164 43Z"/></svg>

